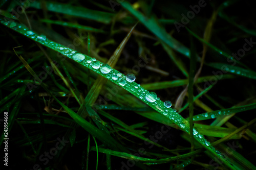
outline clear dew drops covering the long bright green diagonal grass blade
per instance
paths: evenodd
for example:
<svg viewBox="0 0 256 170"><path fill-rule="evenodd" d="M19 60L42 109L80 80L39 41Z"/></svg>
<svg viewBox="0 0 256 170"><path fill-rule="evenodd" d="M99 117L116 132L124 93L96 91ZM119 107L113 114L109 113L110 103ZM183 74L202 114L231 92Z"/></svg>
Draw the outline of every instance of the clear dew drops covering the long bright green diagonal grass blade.
<svg viewBox="0 0 256 170"><path fill-rule="evenodd" d="M95 58L91 58L86 55L77 53L76 51L73 51L70 48L54 43L53 41L48 41L45 35L37 35L33 31L27 30L27 28L25 28L24 26L19 25L19 23L9 21L6 22L1 18L0 21L4 25L9 26L10 28L17 30L19 32L20 29L23 29L23 33L25 32L25 36L28 36L31 39L34 39L35 41L40 42L42 44L47 44L47 46L49 47L57 48L58 51L61 51L61 54L69 58L72 58L73 60L80 62L81 64L86 65L87 67L91 67L91 69L93 69L95 72L106 75L106 78L112 79L112 81L118 83L124 89L133 91L134 94L137 94L141 100L153 103L153 105L159 110L161 110L165 116L174 120L174 122L178 123L183 130L189 132L189 128L187 128L182 121L183 118L179 114L176 114L175 109L170 109L172 103L170 101L165 101L163 106L159 106L159 103L156 103L160 100L159 98L157 98L157 94L155 92L149 92L145 90L143 87L141 87L140 84L135 83L134 81L136 77L134 74L127 74L126 76L124 76L119 71L112 69L108 64L103 64L100 61L97 61ZM132 83L134 84L131 85ZM211 147L212 150L219 154L219 151L216 151L210 145L210 142L208 142L203 135L200 135L198 131L194 129L193 134L199 140L204 142L205 145L207 145L207 147Z"/></svg>

